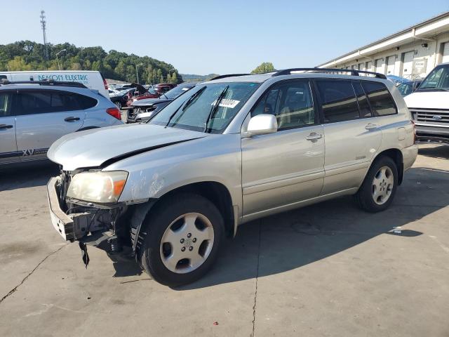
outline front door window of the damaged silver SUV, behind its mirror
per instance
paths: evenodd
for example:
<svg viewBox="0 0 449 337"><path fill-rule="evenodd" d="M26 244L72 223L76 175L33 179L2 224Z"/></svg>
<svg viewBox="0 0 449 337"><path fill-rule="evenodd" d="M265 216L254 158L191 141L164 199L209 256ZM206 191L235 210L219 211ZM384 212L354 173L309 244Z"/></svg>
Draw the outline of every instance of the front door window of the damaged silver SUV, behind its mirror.
<svg viewBox="0 0 449 337"><path fill-rule="evenodd" d="M293 81L273 86L257 103L251 116L273 114L279 130L315 123L314 104L308 81Z"/></svg>

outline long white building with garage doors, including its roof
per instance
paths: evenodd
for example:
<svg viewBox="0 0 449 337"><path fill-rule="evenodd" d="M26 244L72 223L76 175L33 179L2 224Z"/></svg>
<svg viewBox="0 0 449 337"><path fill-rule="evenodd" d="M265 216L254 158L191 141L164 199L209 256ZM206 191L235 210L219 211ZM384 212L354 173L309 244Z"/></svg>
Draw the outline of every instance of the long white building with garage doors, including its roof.
<svg viewBox="0 0 449 337"><path fill-rule="evenodd" d="M444 62L449 62L449 12L317 67L368 70L420 79Z"/></svg>

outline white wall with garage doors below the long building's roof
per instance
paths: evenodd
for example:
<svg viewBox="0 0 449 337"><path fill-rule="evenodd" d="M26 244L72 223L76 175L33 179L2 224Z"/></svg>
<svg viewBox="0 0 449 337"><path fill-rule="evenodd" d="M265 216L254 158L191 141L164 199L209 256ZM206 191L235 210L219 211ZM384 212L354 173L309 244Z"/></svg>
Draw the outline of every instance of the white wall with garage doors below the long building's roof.
<svg viewBox="0 0 449 337"><path fill-rule="evenodd" d="M449 32L438 34L432 39L433 41L416 39L411 43L398 45L398 50L396 47L390 48L360 56L356 60L337 63L333 67L368 70L407 79L424 78L436 65L443 61L449 62ZM427 48L422 44L427 44Z"/></svg>

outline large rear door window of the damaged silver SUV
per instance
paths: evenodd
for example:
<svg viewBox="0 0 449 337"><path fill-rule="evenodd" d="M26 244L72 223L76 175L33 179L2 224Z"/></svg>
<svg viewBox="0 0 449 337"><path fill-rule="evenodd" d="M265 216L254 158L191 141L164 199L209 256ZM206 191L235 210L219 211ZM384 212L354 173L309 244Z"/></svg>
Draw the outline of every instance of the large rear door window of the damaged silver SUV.
<svg viewBox="0 0 449 337"><path fill-rule="evenodd" d="M358 119L358 105L350 81L317 81L324 121Z"/></svg>

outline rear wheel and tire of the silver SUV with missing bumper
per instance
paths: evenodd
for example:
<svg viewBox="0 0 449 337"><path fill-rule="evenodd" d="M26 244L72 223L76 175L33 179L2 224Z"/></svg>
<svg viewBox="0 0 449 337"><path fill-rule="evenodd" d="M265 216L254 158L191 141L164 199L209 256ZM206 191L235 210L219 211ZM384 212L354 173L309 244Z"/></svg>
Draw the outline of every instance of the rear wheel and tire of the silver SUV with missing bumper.
<svg viewBox="0 0 449 337"><path fill-rule="evenodd" d="M398 169L390 157L382 156L373 162L354 199L358 206L370 213L387 209L398 187Z"/></svg>

